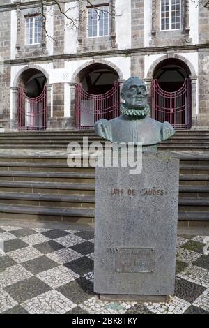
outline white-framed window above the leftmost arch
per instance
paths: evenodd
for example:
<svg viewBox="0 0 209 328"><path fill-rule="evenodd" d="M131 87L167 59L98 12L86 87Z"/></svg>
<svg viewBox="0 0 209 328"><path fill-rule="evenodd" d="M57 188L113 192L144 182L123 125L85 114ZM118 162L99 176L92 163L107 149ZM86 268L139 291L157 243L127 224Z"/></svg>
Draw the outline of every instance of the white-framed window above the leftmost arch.
<svg viewBox="0 0 209 328"><path fill-rule="evenodd" d="M26 17L26 45L41 43L42 17Z"/></svg>

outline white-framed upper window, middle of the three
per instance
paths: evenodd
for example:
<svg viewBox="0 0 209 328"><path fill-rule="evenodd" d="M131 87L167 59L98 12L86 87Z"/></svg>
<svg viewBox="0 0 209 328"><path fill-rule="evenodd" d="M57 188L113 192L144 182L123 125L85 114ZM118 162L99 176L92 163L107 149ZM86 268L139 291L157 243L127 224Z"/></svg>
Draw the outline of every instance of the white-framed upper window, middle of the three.
<svg viewBox="0 0 209 328"><path fill-rule="evenodd" d="M109 6L88 8L88 38L109 35Z"/></svg>

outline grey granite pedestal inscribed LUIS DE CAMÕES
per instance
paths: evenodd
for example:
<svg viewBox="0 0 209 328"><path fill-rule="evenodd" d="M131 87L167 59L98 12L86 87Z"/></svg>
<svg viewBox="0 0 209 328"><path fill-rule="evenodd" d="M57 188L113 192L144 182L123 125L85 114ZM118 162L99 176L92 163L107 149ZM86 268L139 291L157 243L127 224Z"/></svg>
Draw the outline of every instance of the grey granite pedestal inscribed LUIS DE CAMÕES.
<svg viewBox="0 0 209 328"><path fill-rule="evenodd" d="M175 283L178 159L144 154L141 174L129 173L96 168L94 290L108 299L167 297Z"/></svg>

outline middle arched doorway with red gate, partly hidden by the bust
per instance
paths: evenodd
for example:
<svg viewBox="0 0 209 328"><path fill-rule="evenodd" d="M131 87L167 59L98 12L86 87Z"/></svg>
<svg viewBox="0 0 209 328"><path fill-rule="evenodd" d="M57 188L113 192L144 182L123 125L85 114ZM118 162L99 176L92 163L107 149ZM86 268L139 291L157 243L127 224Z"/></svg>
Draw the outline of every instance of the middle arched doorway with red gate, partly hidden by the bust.
<svg viewBox="0 0 209 328"><path fill-rule="evenodd" d="M79 72L76 89L76 126L93 129L98 119L114 119L120 112L118 73L107 64L95 63Z"/></svg>

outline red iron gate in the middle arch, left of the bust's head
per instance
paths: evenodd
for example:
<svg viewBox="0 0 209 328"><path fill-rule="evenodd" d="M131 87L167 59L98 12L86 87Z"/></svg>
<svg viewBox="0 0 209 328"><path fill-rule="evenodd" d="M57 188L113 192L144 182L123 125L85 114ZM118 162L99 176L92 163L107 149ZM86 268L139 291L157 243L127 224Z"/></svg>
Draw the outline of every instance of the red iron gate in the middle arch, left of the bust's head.
<svg viewBox="0 0 209 328"><path fill-rule="evenodd" d="M120 84L105 94L88 94L82 84L77 84L75 102L76 126L79 130L93 130L99 119L114 119L120 114Z"/></svg>

